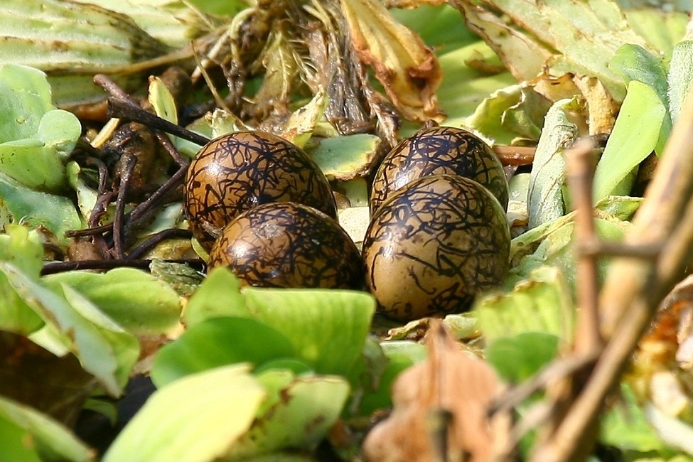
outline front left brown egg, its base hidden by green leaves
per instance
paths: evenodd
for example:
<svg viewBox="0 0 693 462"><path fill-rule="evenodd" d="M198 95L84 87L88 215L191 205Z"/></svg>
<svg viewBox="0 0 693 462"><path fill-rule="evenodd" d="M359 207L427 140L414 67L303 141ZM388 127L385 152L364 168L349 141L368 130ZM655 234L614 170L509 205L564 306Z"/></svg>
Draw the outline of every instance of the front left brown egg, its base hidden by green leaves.
<svg viewBox="0 0 693 462"><path fill-rule="evenodd" d="M360 289L358 249L331 217L297 203L245 211L222 230L208 267L229 267L242 284Z"/></svg>

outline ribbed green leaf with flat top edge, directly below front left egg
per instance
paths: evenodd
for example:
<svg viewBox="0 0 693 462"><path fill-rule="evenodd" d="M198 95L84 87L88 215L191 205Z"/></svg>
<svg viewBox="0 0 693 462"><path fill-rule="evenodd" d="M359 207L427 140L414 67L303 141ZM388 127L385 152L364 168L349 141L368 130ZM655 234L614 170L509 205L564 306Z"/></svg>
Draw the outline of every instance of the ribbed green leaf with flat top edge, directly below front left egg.
<svg viewBox="0 0 693 462"><path fill-rule="evenodd" d="M349 375L360 360L375 312L370 294L251 287L242 294L252 317L286 335L316 372Z"/></svg>

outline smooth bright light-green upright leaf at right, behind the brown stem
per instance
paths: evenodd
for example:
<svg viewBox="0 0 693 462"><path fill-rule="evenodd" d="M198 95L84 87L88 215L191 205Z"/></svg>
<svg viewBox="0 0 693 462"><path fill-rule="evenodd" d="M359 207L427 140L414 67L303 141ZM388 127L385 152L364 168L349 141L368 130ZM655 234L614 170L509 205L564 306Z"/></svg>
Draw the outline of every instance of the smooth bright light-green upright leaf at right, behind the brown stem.
<svg viewBox="0 0 693 462"><path fill-rule="evenodd" d="M631 172L655 150L665 117L667 108L657 92L632 80L594 173L594 203L630 192Z"/></svg>

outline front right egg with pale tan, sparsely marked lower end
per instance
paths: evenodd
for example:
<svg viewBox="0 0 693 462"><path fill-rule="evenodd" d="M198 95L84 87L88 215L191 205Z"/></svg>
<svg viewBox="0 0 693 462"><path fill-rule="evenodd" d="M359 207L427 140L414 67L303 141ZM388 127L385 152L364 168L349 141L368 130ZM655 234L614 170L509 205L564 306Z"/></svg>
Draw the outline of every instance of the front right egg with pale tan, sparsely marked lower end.
<svg viewBox="0 0 693 462"><path fill-rule="evenodd" d="M491 193L469 178L426 176L382 204L363 242L365 281L399 321L469 308L509 269L510 230Z"/></svg>

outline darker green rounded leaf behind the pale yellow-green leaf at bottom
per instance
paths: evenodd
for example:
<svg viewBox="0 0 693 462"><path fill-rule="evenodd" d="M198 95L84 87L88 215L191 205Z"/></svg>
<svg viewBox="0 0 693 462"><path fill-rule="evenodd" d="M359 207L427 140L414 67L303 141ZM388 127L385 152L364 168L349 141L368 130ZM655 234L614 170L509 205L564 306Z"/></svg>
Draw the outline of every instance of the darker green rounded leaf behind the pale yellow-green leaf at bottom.
<svg viewBox="0 0 693 462"><path fill-rule="evenodd" d="M156 353L151 378L157 387L185 375L245 362L254 366L296 356L289 340L250 318L213 318L195 324Z"/></svg>

